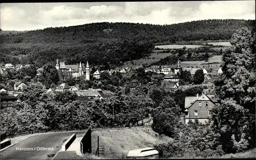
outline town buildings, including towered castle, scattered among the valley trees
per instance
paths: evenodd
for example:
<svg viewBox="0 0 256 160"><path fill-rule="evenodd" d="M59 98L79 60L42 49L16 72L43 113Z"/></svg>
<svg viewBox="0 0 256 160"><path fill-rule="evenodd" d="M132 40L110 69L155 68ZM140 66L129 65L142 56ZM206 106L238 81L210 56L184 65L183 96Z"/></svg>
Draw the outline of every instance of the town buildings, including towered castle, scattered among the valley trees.
<svg viewBox="0 0 256 160"><path fill-rule="evenodd" d="M201 79L201 84L203 86L203 92L202 94L197 94L197 96L187 96L185 97L185 111L184 114L186 115L184 117L184 123L188 123L189 120L195 121L195 122L203 122L208 120L208 116L212 115L212 107L215 104L218 104L219 101L216 99L216 93L215 93L215 85L212 81L211 75L217 75L221 74L222 70L221 68L218 69L218 72L212 72L211 74L208 74L207 70L205 68L182 68L181 67L181 62L178 60L177 61L177 67L175 68L160 68L164 66L153 66L151 68L146 68L144 69L143 74L147 73L147 76L150 78L150 82L148 84L161 84L159 87L163 88L164 90L167 91L175 91L178 89L181 90L186 90L188 88L193 88L195 85L193 84L188 84L188 85L179 85L179 79L182 78L181 72L187 72L188 74L191 74L192 76L195 76L196 72L200 72L203 76ZM8 74L7 72L11 72L13 70L20 70L31 67L31 65L22 65L22 64L2 64L1 65L1 74ZM123 68L120 71L116 71L116 69L111 69L111 70L96 70L93 74L90 74L90 66L87 61L86 65L80 64L79 65L65 65L65 62L59 62L59 60L56 60L55 68L58 71L58 75L61 77L59 81L59 85L57 85L55 88L47 88L44 86L44 90L46 93L49 94L55 94L55 91L71 91L76 93L77 95L77 100L82 100L82 101L90 101L90 100L95 100L95 99L103 99L106 97L111 97L114 95L113 92L109 90L102 90L101 88L89 88L86 90L81 90L79 89L78 85L74 86L69 86L67 83L65 83L65 77L69 75L70 77L73 78L78 78L78 77L83 77L85 81L91 81L92 79L101 79L101 74L104 75L104 72L109 75L115 75L115 74L120 74L121 76L124 77L131 77L136 76L138 74L138 71L133 68ZM41 75L43 68L38 68L36 70L36 75L35 77L38 77ZM62 74L65 74L66 76L62 76ZM34 78L34 77L33 77ZM35 78L36 79L36 78ZM29 79L28 81L12 81L14 82L12 90L5 90L4 88L1 89L1 103L2 103L2 108L12 106L13 103L20 102L19 100L19 95L23 93L23 89L31 84L36 85L35 79ZM23 80L23 79L20 79ZM100 82L100 81L98 81ZM130 82L127 82L124 84L124 86L120 88L129 88L129 89L134 89L136 87L140 87L141 83L138 81L136 78L131 79ZM143 86L143 85L142 85ZM197 86L197 85L195 85ZM202 111L200 111L200 106L207 106L208 111L205 110L205 107ZM192 105L193 104L193 105ZM197 106L196 106L197 105ZM198 109L198 110L195 110ZM197 113L199 112L199 114ZM190 116L189 116L190 113ZM193 113L193 114L192 114Z"/></svg>

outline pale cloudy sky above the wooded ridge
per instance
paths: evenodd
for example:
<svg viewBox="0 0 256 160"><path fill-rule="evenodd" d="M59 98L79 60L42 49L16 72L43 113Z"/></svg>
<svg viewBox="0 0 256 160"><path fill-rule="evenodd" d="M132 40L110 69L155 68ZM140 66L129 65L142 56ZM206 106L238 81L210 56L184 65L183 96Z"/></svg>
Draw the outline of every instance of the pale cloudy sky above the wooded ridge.
<svg viewBox="0 0 256 160"><path fill-rule="evenodd" d="M203 19L255 19L255 1L1 3L3 31L93 22L174 24Z"/></svg>

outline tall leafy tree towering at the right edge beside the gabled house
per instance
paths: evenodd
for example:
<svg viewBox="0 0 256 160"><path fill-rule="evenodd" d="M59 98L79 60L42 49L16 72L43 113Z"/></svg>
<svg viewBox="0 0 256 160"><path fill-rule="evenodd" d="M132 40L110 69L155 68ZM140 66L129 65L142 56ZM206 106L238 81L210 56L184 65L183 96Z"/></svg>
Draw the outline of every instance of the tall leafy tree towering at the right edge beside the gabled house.
<svg viewBox="0 0 256 160"><path fill-rule="evenodd" d="M221 105L214 109L214 126L225 151L235 152L255 147L255 33L240 29L230 43L215 81Z"/></svg>

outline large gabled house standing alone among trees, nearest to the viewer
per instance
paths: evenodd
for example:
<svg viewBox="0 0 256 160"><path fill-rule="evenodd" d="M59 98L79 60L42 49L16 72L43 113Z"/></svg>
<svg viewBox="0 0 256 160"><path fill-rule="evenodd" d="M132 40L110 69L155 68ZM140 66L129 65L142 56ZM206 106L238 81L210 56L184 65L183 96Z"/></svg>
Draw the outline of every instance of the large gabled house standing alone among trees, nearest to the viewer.
<svg viewBox="0 0 256 160"><path fill-rule="evenodd" d="M189 121L205 123L212 115L215 105L218 105L218 100L210 98L204 93L201 96L185 97L185 124Z"/></svg>

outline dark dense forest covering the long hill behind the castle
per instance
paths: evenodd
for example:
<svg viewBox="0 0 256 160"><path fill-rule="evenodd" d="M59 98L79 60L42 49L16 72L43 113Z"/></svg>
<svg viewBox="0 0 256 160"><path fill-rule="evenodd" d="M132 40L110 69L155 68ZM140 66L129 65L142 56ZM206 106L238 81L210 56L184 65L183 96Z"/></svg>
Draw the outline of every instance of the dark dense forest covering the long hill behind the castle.
<svg viewBox="0 0 256 160"><path fill-rule="evenodd" d="M237 29L255 30L254 23L236 19L171 25L101 22L15 34L1 31L1 62L41 67L59 58L66 64L90 61L92 65L114 68L149 56L156 43L229 40Z"/></svg>

